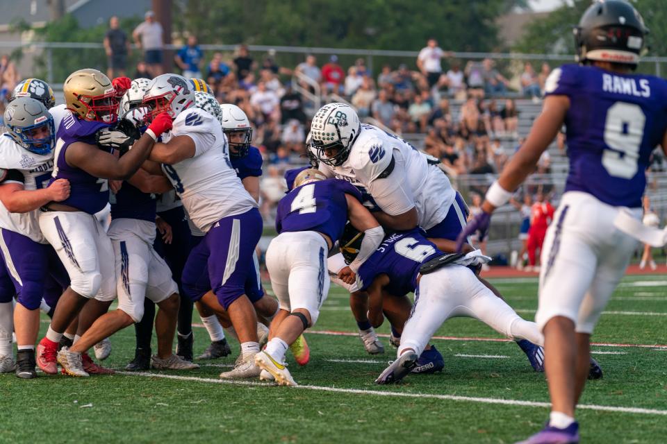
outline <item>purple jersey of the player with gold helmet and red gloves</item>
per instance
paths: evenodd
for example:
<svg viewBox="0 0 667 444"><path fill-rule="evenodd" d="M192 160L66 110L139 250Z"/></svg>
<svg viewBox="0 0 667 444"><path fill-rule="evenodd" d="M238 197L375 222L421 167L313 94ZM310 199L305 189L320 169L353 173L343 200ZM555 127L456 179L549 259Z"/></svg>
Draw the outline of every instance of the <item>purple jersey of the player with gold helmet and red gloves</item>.
<svg viewBox="0 0 667 444"><path fill-rule="evenodd" d="M110 125L104 122L85 121L69 113L63 117L58 128L56 142L56 160L51 175L51 182L56 179L67 179L72 187L69 198L62 204L77 208L88 214L101 211L109 201L108 180L100 179L86 173L82 169L70 167L65 161L65 152L70 144L83 142L95 145L95 133Z"/></svg>

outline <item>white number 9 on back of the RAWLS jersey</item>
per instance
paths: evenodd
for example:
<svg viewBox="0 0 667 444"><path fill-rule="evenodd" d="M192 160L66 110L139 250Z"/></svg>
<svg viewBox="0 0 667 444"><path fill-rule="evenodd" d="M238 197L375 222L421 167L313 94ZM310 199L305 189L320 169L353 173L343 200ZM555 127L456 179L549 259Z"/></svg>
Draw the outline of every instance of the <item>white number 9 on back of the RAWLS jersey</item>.
<svg viewBox="0 0 667 444"><path fill-rule="evenodd" d="M611 149L604 150L602 166L609 176L632 179L637 173L645 122L644 112L634 103L616 102L607 110L604 143Z"/></svg>

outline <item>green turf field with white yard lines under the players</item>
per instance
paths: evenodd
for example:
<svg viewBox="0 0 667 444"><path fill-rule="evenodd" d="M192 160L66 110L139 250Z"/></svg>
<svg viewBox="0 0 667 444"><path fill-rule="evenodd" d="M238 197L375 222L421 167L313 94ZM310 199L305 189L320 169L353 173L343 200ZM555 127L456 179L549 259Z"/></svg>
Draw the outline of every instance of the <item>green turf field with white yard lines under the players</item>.
<svg viewBox="0 0 667 444"><path fill-rule="evenodd" d="M522 316L534 316L536 280L494 283ZM582 443L667 442L666 289L664 275L625 278L603 314L594 341L609 344L593 350L604 378L584 392ZM332 287L314 330L356 332L347 307L346 294ZM454 319L438 335L501 337L471 319ZM0 375L0 442L513 443L547 419L544 376L514 343L436 339L443 373L377 386L374 378L395 356L388 339L385 355L370 356L356 336L306 338L311 362L299 368L288 360L299 388L220 382L236 343L232 356L187 373ZM206 331L195 328L195 339L197 354L208 345ZM133 329L111 341L105 364L122 368L133 357Z"/></svg>

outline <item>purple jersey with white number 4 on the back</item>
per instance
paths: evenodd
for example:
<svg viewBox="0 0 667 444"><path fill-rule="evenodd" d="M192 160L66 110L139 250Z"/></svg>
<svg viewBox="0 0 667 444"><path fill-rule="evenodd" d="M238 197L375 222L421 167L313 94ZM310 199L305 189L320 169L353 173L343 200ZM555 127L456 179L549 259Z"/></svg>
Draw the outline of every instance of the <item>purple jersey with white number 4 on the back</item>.
<svg viewBox="0 0 667 444"><path fill-rule="evenodd" d="M276 230L317 231L337 241L347 222L345 194L361 201L359 191L345 180L317 180L293 189L278 203Z"/></svg>

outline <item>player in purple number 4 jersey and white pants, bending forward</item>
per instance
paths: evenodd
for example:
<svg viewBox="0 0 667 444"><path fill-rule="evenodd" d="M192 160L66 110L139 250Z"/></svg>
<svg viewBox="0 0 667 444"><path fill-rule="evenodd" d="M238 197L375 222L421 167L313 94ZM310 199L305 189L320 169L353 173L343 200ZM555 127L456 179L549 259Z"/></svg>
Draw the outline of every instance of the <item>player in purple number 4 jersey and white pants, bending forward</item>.
<svg viewBox="0 0 667 444"><path fill-rule="evenodd" d="M343 234L348 217L365 236L359 255L339 275L346 282L354 281L359 266L384 237L379 223L361 205L361 194L349 183L327 180L320 171L306 169L299 173L294 185L278 204L279 234L266 252L271 287L281 309L271 323L270 341L255 357L256 364L281 386L297 385L284 362L285 352L318 320L329 293L324 262L327 252Z"/></svg>

